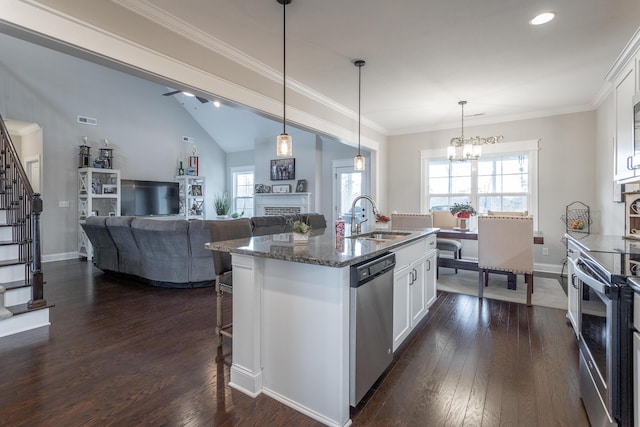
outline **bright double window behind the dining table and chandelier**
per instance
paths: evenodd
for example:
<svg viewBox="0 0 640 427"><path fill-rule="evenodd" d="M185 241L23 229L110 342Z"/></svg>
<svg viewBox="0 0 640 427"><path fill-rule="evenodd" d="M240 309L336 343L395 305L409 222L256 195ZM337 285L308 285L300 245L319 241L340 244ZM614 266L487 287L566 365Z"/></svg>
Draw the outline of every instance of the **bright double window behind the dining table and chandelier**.
<svg viewBox="0 0 640 427"><path fill-rule="evenodd" d="M424 212L470 201L479 213L537 213L538 141L483 146L477 161L450 162L444 150L424 150L422 200Z"/></svg>

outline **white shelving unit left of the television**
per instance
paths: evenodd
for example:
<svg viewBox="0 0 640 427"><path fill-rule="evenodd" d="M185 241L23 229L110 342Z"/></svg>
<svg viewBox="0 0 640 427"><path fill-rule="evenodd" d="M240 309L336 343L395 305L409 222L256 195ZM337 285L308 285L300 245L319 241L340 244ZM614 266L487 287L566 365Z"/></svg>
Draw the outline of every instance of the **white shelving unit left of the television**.
<svg viewBox="0 0 640 427"><path fill-rule="evenodd" d="M88 216L120 216L120 171L78 169L78 255L93 258L93 247L80 224Z"/></svg>

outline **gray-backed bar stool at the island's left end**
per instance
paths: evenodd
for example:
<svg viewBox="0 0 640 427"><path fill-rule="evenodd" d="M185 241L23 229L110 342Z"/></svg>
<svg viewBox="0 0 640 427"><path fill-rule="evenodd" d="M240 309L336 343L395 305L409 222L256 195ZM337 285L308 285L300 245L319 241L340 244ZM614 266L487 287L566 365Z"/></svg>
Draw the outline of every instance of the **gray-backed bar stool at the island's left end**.
<svg viewBox="0 0 640 427"><path fill-rule="evenodd" d="M211 222L211 241L244 239L251 237L251 221L248 218L240 218L229 221ZM232 322L224 324L222 319L223 292L233 293L233 271L231 268L231 254L229 252L213 251L213 269L216 274L216 336L218 347L222 346L222 337L233 338L229 331Z"/></svg>

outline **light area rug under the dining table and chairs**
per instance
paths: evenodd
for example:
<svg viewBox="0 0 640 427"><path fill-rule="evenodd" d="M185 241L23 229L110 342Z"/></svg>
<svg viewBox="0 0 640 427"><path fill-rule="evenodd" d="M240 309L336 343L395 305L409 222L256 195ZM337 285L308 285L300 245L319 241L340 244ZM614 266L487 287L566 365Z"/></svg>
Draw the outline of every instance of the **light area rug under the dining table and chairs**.
<svg viewBox="0 0 640 427"><path fill-rule="evenodd" d="M484 297L526 304L527 285L524 283L524 277L522 275L518 276L516 287L516 290L507 289L506 275L490 274L489 286L484 288ZM438 290L477 296L478 273L475 271L458 270L458 274L448 274L440 270ZM562 289L558 279L534 275L531 304L566 310L567 294Z"/></svg>

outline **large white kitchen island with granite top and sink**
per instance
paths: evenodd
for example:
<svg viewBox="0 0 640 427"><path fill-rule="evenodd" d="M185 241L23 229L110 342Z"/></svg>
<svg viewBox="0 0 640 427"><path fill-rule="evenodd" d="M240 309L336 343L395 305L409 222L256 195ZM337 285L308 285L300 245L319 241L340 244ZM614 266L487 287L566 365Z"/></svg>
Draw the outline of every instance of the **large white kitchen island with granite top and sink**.
<svg viewBox="0 0 640 427"><path fill-rule="evenodd" d="M265 393L326 425L349 425L350 267L389 251L396 253L398 267L411 266L412 273L401 277L410 275L412 282L394 282L394 301L389 301L394 337L398 329L406 338L406 328L396 328L396 318L403 318L396 308L423 307L415 319L407 308L404 317L413 325L435 299L435 272L429 301L422 292L422 301L414 296L405 304L411 290L403 285L424 274L414 265L420 260L420 266L427 265L425 255L435 254L437 231L376 239L336 238L333 229L321 229L312 230L303 244L291 233L208 243L207 249L232 253L230 386L253 397ZM435 270L435 263L429 268Z"/></svg>

